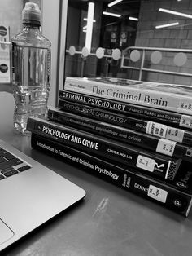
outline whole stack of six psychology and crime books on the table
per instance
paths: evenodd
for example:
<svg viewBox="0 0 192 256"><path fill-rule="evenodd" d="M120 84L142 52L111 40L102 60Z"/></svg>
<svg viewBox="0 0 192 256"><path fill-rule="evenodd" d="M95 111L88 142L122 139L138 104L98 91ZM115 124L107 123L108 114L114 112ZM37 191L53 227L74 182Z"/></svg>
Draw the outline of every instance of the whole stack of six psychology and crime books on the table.
<svg viewBox="0 0 192 256"><path fill-rule="evenodd" d="M48 119L28 117L32 147L188 216L192 89L67 77Z"/></svg>

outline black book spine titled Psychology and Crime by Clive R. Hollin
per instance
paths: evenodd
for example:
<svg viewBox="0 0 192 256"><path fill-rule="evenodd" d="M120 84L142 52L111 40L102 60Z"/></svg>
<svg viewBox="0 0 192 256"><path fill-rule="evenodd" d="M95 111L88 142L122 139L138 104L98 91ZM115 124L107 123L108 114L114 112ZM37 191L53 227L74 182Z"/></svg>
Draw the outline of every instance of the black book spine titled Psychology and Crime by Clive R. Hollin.
<svg viewBox="0 0 192 256"><path fill-rule="evenodd" d="M172 179L181 164L181 160L172 157L145 152L141 148L113 142L111 139L37 117L28 117L27 130L110 161L120 162L124 166L133 166L159 179Z"/></svg>

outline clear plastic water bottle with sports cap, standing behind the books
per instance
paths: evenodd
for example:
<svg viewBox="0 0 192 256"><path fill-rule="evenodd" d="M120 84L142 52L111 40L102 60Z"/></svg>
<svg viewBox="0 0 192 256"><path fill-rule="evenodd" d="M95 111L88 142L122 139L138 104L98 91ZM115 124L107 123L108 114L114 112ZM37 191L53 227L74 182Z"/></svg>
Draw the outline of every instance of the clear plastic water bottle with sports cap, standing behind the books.
<svg viewBox="0 0 192 256"><path fill-rule="evenodd" d="M47 116L51 44L41 33L41 11L36 3L25 3L22 20L22 32L11 39L12 82L14 127L26 135L29 116Z"/></svg>

